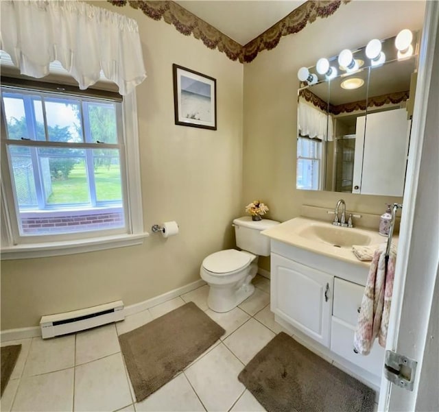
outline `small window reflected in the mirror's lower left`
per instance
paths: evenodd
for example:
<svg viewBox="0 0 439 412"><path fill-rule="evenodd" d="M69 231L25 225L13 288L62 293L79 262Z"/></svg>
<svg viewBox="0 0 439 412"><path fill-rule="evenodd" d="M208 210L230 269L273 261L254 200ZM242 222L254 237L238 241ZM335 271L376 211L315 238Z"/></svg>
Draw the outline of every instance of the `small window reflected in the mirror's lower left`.
<svg viewBox="0 0 439 412"><path fill-rule="evenodd" d="M322 141L297 139L297 189L317 190L322 182Z"/></svg>

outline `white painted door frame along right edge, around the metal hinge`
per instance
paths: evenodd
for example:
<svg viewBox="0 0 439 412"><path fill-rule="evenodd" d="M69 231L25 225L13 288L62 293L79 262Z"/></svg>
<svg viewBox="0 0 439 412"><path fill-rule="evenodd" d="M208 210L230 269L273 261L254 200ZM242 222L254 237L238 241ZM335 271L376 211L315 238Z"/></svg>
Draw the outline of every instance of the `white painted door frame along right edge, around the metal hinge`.
<svg viewBox="0 0 439 412"><path fill-rule="evenodd" d="M386 349L418 362L413 391L383 377L379 411L439 411L439 2L427 1Z"/></svg>

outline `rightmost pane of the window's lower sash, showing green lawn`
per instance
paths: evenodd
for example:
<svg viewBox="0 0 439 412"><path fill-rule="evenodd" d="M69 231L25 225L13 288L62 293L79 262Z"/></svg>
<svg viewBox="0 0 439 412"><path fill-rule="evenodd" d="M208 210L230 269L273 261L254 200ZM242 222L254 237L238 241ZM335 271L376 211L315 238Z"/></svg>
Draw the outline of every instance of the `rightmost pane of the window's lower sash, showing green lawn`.
<svg viewBox="0 0 439 412"><path fill-rule="evenodd" d="M122 202L119 150L93 150L97 202Z"/></svg>

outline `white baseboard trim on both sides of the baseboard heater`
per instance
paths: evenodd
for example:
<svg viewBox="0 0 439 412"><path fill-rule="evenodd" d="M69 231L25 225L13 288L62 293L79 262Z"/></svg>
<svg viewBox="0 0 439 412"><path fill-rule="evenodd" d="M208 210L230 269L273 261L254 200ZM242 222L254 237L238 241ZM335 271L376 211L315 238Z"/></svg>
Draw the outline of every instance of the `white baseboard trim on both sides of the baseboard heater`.
<svg viewBox="0 0 439 412"><path fill-rule="evenodd" d="M135 303L132 305L125 306L123 308L123 313L125 316L134 315L134 313L139 313L141 311L145 311L146 309L152 308L152 306L156 306L167 300L177 298L178 296L193 291L194 289L198 289L202 287L206 282L202 279L195 280L195 282L191 282L186 284L185 286L178 287L177 289L173 289L169 292L163 293L163 295L155 296L154 298L144 300L143 302ZM0 341L18 341L19 339L29 339L32 337L40 337L41 336L41 328L40 326L31 326L29 328L15 328L15 329L6 329L1 330L0 332Z"/></svg>

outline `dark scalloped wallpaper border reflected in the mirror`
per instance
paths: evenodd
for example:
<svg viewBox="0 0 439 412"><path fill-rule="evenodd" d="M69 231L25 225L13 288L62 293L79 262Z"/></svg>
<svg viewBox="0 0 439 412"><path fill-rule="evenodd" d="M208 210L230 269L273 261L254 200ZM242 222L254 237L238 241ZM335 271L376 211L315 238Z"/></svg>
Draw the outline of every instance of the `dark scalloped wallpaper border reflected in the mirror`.
<svg viewBox="0 0 439 412"><path fill-rule="evenodd" d="M326 101L315 95L309 88L303 88L298 93L299 97L303 97L306 101L320 108L324 112L327 111L328 104ZM402 92L389 93L387 95L379 95L368 97L367 107L381 107L385 104L399 104L406 101L410 96L410 90ZM331 114L351 113L356 110L366 110L366 100L352 101L351 103L338 104L337 106L329 105L329 112Z"/></svg>

